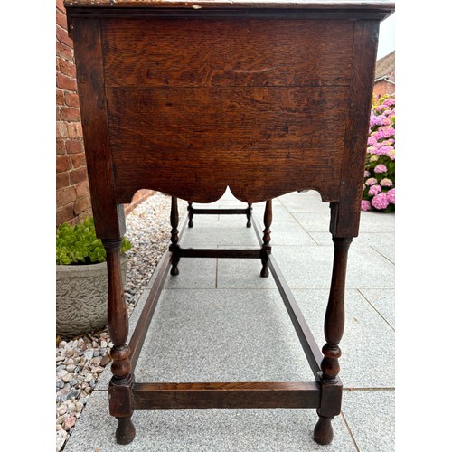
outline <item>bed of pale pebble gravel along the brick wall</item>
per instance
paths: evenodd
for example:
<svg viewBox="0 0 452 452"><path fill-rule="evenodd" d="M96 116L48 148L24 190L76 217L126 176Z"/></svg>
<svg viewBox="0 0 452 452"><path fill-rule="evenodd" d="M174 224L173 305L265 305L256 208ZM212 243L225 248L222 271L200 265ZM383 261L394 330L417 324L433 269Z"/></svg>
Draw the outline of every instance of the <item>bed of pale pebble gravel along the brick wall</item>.
<svg viewBox="0 0 452 452"><path fill-rule="evenodd" d="M179 201L182 218L187 203ZM127 252L127 281L124 294L128 314L137 301L168 247L171 197L155 193L126 217L127 239L133 248ZM89 394L110 361L107 327L76 337L57 337L56 344L56 450L64 449Z"/></svg>

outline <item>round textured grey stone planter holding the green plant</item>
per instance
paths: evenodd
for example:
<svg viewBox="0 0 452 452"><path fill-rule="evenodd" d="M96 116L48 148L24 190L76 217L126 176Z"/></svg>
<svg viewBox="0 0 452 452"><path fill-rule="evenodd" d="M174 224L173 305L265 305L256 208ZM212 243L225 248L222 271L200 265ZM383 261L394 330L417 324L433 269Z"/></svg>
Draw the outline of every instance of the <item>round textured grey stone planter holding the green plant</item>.
<svg viewBox="0 0 452 452"><path fill-rule="evenodd" d="M123 283L127 256L121 256ZM63 337L91 333L107 325L107 262L56 266L56 333Z"/></svg>

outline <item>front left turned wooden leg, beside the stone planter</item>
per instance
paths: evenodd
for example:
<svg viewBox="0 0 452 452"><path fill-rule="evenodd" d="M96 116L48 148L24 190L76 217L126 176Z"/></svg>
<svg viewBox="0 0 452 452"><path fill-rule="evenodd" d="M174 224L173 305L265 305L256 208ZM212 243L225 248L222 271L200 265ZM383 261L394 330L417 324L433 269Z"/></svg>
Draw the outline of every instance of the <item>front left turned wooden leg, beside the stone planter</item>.
<svg viewBox="0 0 452 452"><path fill-rule="evenodd" d="M102 240L107 251L108 268L108 334L113 348L111 372L113 377L108 386L109 410L118 419L116 439L118 444L128 444L135 438L133 414L132 383L133 373L127 345L128 315L124 300L121 277L120 248L122 239Z"/></svg>

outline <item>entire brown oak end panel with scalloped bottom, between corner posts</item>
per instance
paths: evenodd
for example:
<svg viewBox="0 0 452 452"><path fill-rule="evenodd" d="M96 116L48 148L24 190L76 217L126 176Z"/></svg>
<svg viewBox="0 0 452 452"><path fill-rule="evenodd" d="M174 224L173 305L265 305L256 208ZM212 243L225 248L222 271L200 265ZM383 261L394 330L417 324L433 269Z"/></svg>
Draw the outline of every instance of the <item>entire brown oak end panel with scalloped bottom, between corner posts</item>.
<svg viewBox="0 0 452 452"><path fill-rule="evenodd" d="M104 20L117 201L150 188L213 202L227 186L244 202L307 188L338 201L353 31L349 21Z"/></svg>

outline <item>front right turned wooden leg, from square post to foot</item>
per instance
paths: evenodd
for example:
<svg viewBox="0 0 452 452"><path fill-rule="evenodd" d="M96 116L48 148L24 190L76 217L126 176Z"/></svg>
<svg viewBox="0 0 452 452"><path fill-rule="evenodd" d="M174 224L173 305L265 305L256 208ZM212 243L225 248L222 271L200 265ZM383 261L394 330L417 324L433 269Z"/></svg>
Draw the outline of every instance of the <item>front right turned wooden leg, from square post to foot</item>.
<svg viewBox="0 0 452 452"><path fill-rule="evenodd" d="M320 384L322 396L319 416L314 429L315 441L319 444L329 444L333 440L331 420L341 412L342 383L339 381L339 358L341 349L339 343L344 334L345 309L345 276L347 270L347 254L352 239L333 237L334 263L331 279L330 296L325 313L325 340L322 348L324 359L320 365L322 373Z"/></svg>

